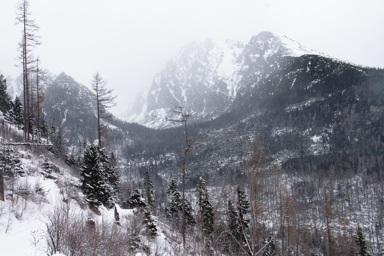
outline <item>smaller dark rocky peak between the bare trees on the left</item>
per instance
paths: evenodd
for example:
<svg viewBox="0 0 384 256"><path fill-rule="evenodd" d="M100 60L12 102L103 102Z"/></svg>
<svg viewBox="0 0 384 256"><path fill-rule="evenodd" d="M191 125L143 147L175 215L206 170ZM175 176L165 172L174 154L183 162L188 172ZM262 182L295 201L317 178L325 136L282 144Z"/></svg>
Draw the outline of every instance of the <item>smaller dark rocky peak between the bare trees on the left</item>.
<svg viewBox="0 0 384 256"><path fill-rule="evenodd" d="M96 107L92 92L72 77L61 73L49 83L45 90L44 104L47 120L55 120L56 127L61 126L69 140L97 137Z"/></svg>

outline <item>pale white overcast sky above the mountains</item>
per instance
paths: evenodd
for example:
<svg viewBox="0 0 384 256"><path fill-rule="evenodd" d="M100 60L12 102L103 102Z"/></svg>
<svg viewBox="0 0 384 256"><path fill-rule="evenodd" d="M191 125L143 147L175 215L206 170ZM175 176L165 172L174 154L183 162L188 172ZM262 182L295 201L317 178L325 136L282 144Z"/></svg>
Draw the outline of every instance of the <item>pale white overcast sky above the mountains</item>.
<svg viewBox="0 0 384 256"><path fill-rule="evenodd" d="M18 1L0 1L0 71L16 77ZM167 60L194 40L247 43L271 31L360 65L384 68L384 1L30 0L40 67L90 87L98 71L121 113Z"/></svg>

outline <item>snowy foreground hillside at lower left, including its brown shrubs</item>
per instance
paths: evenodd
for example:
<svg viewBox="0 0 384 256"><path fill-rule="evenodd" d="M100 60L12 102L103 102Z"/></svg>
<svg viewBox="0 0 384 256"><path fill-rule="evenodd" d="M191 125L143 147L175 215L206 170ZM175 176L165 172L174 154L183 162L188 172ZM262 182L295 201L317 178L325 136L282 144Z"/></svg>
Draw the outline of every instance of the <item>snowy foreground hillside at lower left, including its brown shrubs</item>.
<svg viewBox="0 0 384 256"><path fill-rule="evenodd" d="M167 241L174 234L159 230L157 237L148 237L138 209L91 209L79 188L79 170L45 147L13 143L22 134L6 123L0 137L1 162L6 163L2 255L174 254L179 246Z"/></svg>

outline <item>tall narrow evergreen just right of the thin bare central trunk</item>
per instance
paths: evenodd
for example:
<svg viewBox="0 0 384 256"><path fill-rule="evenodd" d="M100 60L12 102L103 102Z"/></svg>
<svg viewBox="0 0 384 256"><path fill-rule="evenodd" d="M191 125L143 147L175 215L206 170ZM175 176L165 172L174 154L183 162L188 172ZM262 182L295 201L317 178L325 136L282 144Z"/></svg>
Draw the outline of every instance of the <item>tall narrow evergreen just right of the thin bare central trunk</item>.
<svg viewBox="0 0 384 256"><path fill-rule="evenodd" d="M206 254L212 254L212 234L214 233L214 207L209 201L208 189L205 186L205 180L200 177L196 188L196 197L200 207L200 219L202 221L202 232L204 240L204 250Z"/></svg>

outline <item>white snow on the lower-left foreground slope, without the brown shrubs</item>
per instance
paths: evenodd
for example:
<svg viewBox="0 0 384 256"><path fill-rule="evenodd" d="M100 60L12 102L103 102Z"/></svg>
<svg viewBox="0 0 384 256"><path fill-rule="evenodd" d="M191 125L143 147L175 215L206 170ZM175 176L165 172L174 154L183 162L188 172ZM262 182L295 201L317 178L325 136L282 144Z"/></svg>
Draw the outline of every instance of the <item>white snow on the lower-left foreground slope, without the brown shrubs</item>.
<svg viewBox="0 0 384 256"><path fill-rule="evenodd" d="M0 247L1 255L51 255L49 250L47 223L55 209L68 206L73 216L92 218L95 223L116 225L115 209L99 207L99 215L85 204L84 196L76 184L79 180L71 175L71 169L60 166L60 172L47 171L41 167L41 156L19 151L24 177L14 180L14 191L7 189L5 202L0 201ZM6 186L9 188L9 184ZM76 199L76 200L75 200ZM125 228L134 218L134 209L121 209L116 205L120 225ZM160 223L159 223L160 224ZM81 239L81 238L79 238ZM173 248L164 233L158 231L154 239L141 240L150 248L151 254L172 255ZM140 251L140 248L138 249ZM56 252L54 255L66 255ZM129 255L129 254L126 254ZM135 252L134 255L147 255ZM157 254L156 254L157 255ZM68 256L68 255L67 255Z"/></svg>

